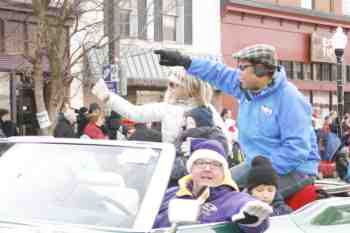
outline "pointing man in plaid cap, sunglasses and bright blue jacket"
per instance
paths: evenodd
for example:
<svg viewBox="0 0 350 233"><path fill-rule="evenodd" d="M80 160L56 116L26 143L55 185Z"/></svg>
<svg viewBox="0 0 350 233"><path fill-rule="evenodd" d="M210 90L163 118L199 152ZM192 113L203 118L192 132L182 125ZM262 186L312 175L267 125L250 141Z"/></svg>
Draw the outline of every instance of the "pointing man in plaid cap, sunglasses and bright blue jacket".
<svg viewBox="0 0 350 233"><path fill-rule="evenodd" d="M272 161L284 198L313 182L320 156L311 105L288 81L273 46L256 44L241 49L233 54L236 69L206 59L191 59L177 51L155 53L160 56L160 65L183 66L188 74L238 100L238 140L245 161L231 172L241 186L245 186L251 161L258 155Z"/></svg>

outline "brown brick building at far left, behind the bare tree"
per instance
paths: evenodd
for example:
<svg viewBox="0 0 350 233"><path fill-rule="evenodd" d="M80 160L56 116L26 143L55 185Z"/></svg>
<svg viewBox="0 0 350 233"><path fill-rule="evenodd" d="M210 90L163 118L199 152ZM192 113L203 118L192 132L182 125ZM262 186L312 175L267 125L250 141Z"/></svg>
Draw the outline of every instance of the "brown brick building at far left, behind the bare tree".
<svg viewBox="0 0 350 233"><path fill-rule="evenodd" d="M0 108L11 112L21 134L35 134L35 101L32 64L25 58L33 55L36 40L36 18L27 1L0 1ZM54 15L54 12L50 12ZM69 25L65 35L69 44ZM44 72L49 74L48 61Z"/></svg>

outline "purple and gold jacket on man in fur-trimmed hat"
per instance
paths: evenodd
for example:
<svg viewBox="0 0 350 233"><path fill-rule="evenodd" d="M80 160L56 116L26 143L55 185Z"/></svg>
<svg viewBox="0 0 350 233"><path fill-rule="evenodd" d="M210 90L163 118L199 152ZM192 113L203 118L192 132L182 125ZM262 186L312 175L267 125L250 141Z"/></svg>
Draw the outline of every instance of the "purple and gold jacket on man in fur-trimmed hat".
<svg viewBox="0 0 350 233"><path fill-rule="evenodd" d="M169 201L174 198L194 199L191 193L192 177L190 175L180 179L179 187L172 187L165 193L158 216L153 228L169 227L168 206ZM234 214L238 214L240 209L248 201L254 201L247 193L237 192L231 182L224 181L224 184L217 187L208 188L198 198L204 200L198 221L200 223L215 223L231 221ZM244 233L262 233L269 226L268 220L263 221L256 227L247 227L238 224L238 227Z"/></svg>

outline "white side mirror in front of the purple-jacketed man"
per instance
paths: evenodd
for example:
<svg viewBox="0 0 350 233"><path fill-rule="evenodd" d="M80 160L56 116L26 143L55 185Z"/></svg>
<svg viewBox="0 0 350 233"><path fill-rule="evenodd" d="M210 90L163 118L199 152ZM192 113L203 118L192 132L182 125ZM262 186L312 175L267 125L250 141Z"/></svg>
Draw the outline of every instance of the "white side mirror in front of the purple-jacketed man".
<svg viewBox="0 0 350 233"><path fill-rule="evenodd" d="M171 224L198 223L200 207L197 200L172 199L168 209L169 221Z"/></svg>

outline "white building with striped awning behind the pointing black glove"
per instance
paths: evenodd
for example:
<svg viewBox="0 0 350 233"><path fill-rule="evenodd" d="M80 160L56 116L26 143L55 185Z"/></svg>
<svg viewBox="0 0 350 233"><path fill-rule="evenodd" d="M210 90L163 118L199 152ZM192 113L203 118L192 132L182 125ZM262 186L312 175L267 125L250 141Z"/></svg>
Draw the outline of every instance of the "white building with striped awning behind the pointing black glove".
<svg viewBox="0 0 350 233"><path fill-rule="evenodd" d="M114 55L119 58L124 71L120 77L127 80L124 89L127 89L129 101L144 104L163 100L169 69L159 66L154 49L176 49L195 57L221 59L220 1L118 1L121 3L120 21L109 22L111 12L105 9L105 33L108 26L115 28L116 38L117 32L120 33L115 45L119 49L115 49L118 52ZM112 0L104 2L111 4ZM117 11L114 14L116 17ZM102 75L102 66L109 62L107 46L100 51L91 51L91 56L86 59L95 76ZM96 101L90 90L83 92L85 106Z"/></svg>

